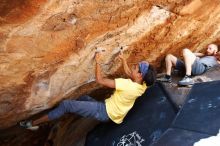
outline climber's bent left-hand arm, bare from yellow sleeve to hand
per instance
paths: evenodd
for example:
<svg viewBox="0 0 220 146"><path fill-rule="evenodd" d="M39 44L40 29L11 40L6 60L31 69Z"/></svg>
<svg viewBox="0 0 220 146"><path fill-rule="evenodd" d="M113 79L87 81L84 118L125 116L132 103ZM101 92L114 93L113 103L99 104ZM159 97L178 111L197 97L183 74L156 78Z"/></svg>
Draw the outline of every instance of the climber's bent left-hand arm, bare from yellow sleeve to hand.
<svg viewBox="0 0 220 146"><path fill-rule="evenodd" d="M96 53L96 82L110 88L115 88L115 80L102 77L100 67L100 53Z"/></svg>

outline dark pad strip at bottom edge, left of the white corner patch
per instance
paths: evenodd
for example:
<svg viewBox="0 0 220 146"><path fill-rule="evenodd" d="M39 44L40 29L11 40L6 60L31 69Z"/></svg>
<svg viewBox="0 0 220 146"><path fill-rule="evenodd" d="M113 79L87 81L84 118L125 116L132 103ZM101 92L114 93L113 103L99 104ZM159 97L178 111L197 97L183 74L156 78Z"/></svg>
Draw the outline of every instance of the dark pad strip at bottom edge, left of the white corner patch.
<svg viewBox="0 0 220 146"><path fill-rule="evenodd" d="M201 138L207 138L210 135L187 131L182 129L168 129L159 141L150 146L193 146Z"/></svg>

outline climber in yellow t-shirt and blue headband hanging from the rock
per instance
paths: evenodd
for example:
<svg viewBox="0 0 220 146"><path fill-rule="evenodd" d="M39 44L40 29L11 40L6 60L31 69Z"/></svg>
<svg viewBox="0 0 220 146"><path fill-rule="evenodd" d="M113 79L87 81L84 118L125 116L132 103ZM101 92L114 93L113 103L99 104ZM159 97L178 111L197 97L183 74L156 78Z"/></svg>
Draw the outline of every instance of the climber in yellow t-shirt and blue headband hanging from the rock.
<svg viewBox="0 0 220 146"><path fill-rule="evenodd" d="M130 69L123 54L120 53L119 58L129 79L116 78L113 80L104 78L101 74L100 57L101 53L96 53L96 82L115 89L110 98L106 99L105 102L99 102L86 95L77 100L64 100L47 115L34 121L21 121L20 126L36 130L39 128L39 124L58 119L65 113L75 113L103 122L112 120L117 124L122 123L135 100L145 92L147 86L154 84L156 72L146 61L139 62Z"/></svg>

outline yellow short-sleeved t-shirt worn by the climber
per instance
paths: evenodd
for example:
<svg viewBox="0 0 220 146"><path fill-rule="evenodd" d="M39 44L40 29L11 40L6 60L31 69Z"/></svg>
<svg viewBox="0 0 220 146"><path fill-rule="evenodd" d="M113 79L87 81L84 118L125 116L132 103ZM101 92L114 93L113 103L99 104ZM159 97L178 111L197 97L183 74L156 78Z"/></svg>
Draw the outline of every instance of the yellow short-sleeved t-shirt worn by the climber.
<svg viewBox="0 0 220 146"><path fill-rule="evenodd" d="M123 122L135 100L147 89L146 84L140 85L131 79L115 79L115 92L105 100L109 118L117 124Z"/></svg>

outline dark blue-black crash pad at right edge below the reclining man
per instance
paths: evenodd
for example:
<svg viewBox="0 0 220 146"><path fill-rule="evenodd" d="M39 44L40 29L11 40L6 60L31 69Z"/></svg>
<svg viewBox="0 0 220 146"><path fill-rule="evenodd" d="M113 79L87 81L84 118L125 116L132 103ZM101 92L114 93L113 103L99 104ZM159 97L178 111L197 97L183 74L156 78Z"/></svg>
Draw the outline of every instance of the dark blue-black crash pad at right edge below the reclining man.
<svg viewBox="0 0 220 146"><path fill-rule="evenodd" d="M172 127L216 135L220 128L220 81L195 84Z"/></svg>

